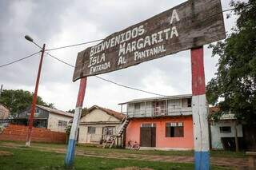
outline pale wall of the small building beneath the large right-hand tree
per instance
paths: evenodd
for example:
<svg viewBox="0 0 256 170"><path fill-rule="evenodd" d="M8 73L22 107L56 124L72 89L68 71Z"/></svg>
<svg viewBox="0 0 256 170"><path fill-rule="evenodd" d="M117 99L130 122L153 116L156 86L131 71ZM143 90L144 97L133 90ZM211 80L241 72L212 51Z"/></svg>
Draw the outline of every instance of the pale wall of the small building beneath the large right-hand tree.
<svg viewBox="0 0 256 170"><path fill-rule="evenodd" d="M220 127L222 126L230 126L231 132L230 133L221 133ZM238 129L238 137L242 137L242 125L237 125ZM211 131L211 146L212 148L222 149L222 141L221 137L234 137L234 122L218 122L210 125Z"/></svg>

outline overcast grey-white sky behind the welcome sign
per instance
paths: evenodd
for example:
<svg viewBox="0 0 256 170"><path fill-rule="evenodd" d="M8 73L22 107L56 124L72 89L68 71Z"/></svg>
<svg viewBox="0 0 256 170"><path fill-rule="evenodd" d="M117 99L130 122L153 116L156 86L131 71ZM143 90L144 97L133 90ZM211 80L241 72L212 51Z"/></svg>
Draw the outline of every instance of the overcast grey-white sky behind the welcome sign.
<svg viewBox="0 0 256 170"><path fill-rule="evenodd" d="M38 48L24 38L26 34L46 49L106 38L116 31L159 14L182 0L1 0L0 1L0 65L26 57ZM222 0L222 9L230 9ZM226 19L226 31L235 24L235 16ZM90 44L95 45L95 44ZM77 53L90 45L52 51L54 56L74 65ZM204 46L206 83L214 77L218 57ZM0 84L4 89L34 91L39 54L24 61L0 68ZM57 109L74 109L79 81L73 82L73 68L46 55L38 95ZM100 75L123 85L164 95L191 93L190 51L147 61L140 65ZM89 77L84 106L99 105L120 111L118 103L141 97L155 97L147 93L125 89Z"/></svg>

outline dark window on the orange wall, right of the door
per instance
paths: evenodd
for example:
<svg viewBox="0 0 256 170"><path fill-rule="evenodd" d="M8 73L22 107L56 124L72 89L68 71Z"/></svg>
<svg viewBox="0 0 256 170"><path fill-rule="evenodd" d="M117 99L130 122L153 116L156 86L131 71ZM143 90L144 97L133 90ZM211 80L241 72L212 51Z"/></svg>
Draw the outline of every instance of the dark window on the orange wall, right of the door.
<svg viewBox="0 0 256 170"><path fill-rule="evenodd" d="M166 123L166 137L183 137L184 127L182 122Z"/></svg>

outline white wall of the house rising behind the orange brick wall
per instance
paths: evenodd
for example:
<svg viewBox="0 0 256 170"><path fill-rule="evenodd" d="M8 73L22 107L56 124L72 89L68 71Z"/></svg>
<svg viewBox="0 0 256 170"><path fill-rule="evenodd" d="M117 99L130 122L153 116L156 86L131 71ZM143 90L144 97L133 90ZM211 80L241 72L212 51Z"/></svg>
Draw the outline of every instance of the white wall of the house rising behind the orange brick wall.
<svg viewBox="0 0 256 170"><path fill-rule="evenodd" d="M66 126L59 126L58 121L66 121L69 122L73 119L73 117L65 117L59 114L50 113L48 117L48 125L47 128L51 131L55 132L65 132Z"/></svg>

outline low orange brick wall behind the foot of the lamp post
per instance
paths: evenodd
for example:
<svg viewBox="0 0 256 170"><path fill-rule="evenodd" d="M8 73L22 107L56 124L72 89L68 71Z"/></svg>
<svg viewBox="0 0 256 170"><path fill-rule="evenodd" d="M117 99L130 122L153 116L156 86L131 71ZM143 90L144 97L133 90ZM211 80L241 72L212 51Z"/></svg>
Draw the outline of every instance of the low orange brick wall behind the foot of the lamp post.
<svg viewBox="0 0 256 170"><path fill-rule="evenodd" d="M8 125L0 134L0 140L26 141L27 126ZM46 128L32 128L31 141L47 143L65 143L65 132L53 132Z"/></svg>

